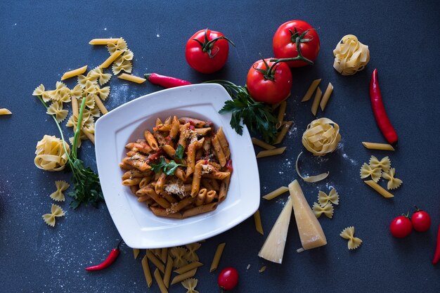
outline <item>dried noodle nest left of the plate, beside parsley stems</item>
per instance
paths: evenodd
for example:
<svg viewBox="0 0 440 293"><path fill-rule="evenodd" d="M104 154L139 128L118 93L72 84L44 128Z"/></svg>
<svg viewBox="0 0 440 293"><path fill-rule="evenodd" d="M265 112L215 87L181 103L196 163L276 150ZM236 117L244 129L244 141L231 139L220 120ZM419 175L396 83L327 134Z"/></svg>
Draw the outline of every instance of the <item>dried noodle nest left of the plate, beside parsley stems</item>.
<svg viewBox="0 0 440 293"><path fill-rule="evenodd" d="M70 155L70 147L64 143L67 155L63 147L63 141L55 136L45 135L41 141L37 143L37 150L34 164L39 169L46 171L60 171L67 163L68 155Z"/></svg>

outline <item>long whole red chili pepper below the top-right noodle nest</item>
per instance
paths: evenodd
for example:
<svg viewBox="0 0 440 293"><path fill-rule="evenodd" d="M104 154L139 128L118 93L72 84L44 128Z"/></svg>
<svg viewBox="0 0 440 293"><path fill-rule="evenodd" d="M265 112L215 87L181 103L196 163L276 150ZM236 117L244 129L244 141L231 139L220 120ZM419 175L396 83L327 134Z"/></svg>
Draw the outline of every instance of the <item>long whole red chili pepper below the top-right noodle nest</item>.
<svg viewBox="0 0 440 293"><path fill-rule="evenodd" d="M380 94L379 83L377 82L376 69L373 70L373 75L371 76L370 100L377 126L379 126L380 131L382 131L382 134L387 139L388 143L391 145L396 145L397 134L391 122L389 122L387 112L385 112L384 103L382 102L382 95Z"/></svg>

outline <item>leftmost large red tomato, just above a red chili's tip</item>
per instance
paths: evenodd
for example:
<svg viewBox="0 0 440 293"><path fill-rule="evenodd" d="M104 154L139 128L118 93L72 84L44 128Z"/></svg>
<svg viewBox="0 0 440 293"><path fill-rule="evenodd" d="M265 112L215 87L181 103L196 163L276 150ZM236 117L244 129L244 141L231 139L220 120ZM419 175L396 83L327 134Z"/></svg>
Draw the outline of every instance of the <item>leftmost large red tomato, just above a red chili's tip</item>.
<svg viewBox="0 0 440 293"><path fill-rule="evenodd" d="M198 72L216 72L224 67L228 60L228 42L233 44L221 32L200 30L186 42L186 62Z"/></svg>

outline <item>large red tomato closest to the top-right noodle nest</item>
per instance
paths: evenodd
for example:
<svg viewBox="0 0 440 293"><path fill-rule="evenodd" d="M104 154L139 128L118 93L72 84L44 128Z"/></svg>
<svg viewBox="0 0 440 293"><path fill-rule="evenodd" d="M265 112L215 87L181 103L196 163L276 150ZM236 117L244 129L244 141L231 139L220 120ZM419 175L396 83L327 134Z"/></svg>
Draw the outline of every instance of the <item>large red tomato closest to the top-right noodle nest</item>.
<svg viewBox="0 0 440 293"><path fill-rule="evenodd" d="M311 61L316 59L319 52L319 37L311 25L302 20L290 20L278 27L273 36L273 53L276 58L293 58L298 56L299 49L304 58ZM304 61L295 60L288 62L290 67L303 67L308 65Z"/></svg>

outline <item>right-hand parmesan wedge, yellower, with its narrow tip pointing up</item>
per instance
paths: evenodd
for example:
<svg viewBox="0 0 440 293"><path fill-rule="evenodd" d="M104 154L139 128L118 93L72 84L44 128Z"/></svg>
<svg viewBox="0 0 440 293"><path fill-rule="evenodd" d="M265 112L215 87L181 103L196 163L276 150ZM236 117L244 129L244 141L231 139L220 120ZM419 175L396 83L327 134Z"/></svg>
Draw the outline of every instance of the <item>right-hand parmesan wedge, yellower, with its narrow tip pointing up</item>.
<svg viewBox="0 0 440 293"><path fill-rule="evenodd" d="M306 250L326 245L323 228L313 214L298 181L289 184L289 192L302 247Z"/></svg>

